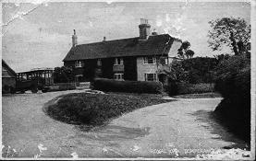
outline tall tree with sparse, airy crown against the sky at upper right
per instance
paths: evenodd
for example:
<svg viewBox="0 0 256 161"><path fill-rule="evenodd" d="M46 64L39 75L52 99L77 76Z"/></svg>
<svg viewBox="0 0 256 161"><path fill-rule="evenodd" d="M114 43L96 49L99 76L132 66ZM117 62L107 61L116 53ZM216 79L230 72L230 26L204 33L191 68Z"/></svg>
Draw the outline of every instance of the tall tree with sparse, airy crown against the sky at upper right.
<svg viewBox="0 0 256 161"><path fill-rule="evenodd" d="M213 51L228 46L238 55L250 52L250 26L243 18L223 17L209 22L208 43Z"/></svg>

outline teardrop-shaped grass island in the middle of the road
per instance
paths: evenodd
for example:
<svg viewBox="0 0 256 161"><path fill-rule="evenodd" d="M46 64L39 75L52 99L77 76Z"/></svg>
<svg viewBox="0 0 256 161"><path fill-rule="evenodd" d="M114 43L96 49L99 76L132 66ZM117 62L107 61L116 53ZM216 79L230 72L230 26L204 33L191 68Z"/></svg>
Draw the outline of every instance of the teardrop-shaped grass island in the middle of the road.
<svg viewBox="0 0 256 161"><path fill-rule="evenodd" d="M134 109L166 103L172 100L152 95L126 94L67 94L44 111L57 121L90 126L104 123Z"/></svg>

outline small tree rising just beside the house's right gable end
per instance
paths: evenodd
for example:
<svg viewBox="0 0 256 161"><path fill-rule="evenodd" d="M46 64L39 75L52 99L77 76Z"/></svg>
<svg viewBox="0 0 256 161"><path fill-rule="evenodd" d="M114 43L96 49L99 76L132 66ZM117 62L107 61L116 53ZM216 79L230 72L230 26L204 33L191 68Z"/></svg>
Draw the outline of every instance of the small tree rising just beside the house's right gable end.
<svg viewBox="0 0 256 161"><path fill-rule="evenodd" d="M191 44L188 40L182 42L180 48L177 50L177 56L181 59L192 58L195 52L189 50Z"/></svg>

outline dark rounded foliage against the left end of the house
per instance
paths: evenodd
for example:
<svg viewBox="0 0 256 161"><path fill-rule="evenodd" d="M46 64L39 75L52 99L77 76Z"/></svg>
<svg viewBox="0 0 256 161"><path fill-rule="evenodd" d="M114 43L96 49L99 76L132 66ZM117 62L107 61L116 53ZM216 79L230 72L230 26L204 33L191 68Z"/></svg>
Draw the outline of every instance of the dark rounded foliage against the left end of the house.
<svg viewBox="0 0 256 161"><path fill-rule="evenodd" d="M67 66L55 67L54 81L55 83L74 82L75 75L73 69Z"/></svg>

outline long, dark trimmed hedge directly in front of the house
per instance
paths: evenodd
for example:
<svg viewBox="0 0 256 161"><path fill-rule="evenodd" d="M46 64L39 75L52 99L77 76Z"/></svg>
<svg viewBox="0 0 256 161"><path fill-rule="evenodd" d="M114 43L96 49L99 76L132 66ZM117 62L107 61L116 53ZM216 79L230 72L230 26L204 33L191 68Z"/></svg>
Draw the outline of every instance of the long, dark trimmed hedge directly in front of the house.
<svg viewBox="0 0 256 161"><path fill-rule="evenodd" d="M146 81L116 81L113 79L97 78L93 82L96 90L128 93L153 93L163 92L163 85L160 82Z"/></svg>

